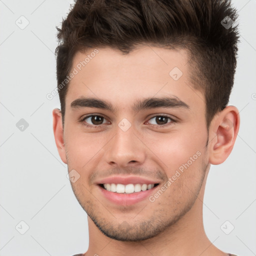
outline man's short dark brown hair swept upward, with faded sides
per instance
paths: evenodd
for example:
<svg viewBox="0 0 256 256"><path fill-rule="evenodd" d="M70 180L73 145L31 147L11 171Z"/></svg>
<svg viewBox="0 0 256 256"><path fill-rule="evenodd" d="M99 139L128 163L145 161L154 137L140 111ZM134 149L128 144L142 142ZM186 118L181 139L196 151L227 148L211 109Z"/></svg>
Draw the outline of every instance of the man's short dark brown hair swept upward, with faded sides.
<svg viewBox="0 0 256 256"><path fill-rule="evenodd" d="M87 48L123 54L140 44L187 49L191 82L205 96L208 128L233 86L237 16L230 0L76 0L57 27L57 83L69 74L74 54ZM63 122L67 89L68 84L58 89Z"/></svg>

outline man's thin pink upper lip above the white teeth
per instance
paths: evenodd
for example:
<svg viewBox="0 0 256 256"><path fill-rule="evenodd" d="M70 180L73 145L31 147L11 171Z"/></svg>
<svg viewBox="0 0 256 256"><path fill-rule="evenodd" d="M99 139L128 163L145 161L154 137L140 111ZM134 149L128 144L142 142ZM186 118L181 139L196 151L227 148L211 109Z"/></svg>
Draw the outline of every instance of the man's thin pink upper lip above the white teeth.
<svg viewBox="0 0 256 256"><path fill-rule="evenodd" d="M107 184L107 183L114 183L114 184L155 184L160 183L159 180L156 179L149 179L146 177L141 176L120 176L120 175L114 175L109 176L106 178L103 178L96 182L97 184Z"/></svg>

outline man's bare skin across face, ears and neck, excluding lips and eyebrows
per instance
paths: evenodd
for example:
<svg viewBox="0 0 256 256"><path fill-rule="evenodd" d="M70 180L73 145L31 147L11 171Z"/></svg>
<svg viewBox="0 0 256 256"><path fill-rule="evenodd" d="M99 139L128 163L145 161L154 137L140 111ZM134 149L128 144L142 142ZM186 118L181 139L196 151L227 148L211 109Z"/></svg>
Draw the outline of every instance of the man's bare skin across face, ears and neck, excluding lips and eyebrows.
<svg viewBox="0 0 256 256"><path fill-rule="evenodd" d="M92 51L77 52L72 69ZM143 45L122 55L98 48L68 85L64 128L59 109L53 110L59 155L68 171L80 175L70 183L88 214L89 247L84 255L226 255L204 232L202 201L210 164L222 163L232 150L239 114L227 106L207 131L204 95L192 87L188 60L182 49ZM169 75L174 67L183 73L178 80ZM136 100L166 95L189 108L132 110ZM82 96L106 100L114 111L72 108L71 102ZM79 121L89 114L104 117L102 124L86 127L86 122L95 125L91 118ZM156 122L159 115L174 121L165 119L169 125L162 127ZM131 124L126 131L118 126L123 118ZM196 152L200 155L194 159ZM102 196L96 184L111 175L133 174L157 180L160 189L190 157L192 163L153 202L146 198L117 205Z"/></svg>

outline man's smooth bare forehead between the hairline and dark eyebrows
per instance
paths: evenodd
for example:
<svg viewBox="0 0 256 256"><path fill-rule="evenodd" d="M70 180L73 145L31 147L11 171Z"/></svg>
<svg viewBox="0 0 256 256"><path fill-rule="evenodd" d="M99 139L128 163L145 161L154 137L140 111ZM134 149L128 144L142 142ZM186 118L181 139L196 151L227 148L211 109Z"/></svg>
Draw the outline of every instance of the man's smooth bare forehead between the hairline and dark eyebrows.
<svg viewBox="0 0 256 256"><path fill-rule="evenodd" d="M66 105L89 96L129 108L141 97L174 96L189 104L203 104L203 95L194 93L189 80L185 50L143 46L122 54L112 48L77 52L71 72ZM200 94L200 95L199 95ZM199 96L198 96L199 95Z"/></svg>

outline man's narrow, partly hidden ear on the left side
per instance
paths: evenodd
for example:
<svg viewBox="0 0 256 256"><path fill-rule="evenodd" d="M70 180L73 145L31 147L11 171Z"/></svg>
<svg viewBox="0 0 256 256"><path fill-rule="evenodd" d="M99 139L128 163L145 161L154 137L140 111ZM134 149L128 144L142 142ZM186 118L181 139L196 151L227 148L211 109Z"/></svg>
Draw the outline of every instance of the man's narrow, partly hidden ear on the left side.
<svg viewBox="0 0 256 256"><path fill-rule="evenodd" d="M54 108L52 111L52 117L53 117L53 133L54 133L56 146L58 149L58 154L61 160L64 163L66 163L66 154L65 154L63 127L62 127L62 118L61 118L60 109Z"/></svg>

